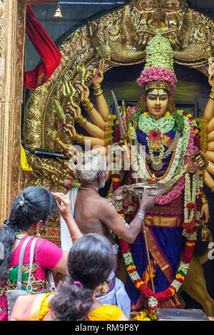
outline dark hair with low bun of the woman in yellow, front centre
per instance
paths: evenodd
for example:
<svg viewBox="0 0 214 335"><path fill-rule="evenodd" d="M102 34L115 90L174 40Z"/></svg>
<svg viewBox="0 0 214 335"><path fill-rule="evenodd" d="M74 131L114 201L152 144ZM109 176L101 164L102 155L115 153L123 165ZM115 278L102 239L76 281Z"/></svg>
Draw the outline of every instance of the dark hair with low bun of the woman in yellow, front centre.
<svg viewBox="0 0 214 335"><path fill-rule="evenodd" d="M51 309L58 321L85 320L93 304L93 291L115 266L113 247L106 237L86 234L68 254L69 280L59 282ZM78 282L78 283L77 283Z"/></svg>

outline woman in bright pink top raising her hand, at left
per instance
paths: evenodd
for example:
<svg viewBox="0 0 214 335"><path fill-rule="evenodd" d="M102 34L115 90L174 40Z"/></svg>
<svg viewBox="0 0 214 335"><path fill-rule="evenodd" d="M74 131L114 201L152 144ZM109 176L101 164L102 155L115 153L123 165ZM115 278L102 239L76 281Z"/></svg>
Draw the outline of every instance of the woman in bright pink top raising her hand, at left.
<svg viewBox="0 0 214 335"><path fill-rule="evenodd" d="M56 199L63 201L60 205ZM16 197L11 207L9 220L0 227L0 243L3 246L4 259L0 259L0 321L8 319L8 305L6 291L16 289L19 254L26 237L34 234L49 221L51 213L56 211L56 206L68 225L71 236L80 236L76 222L71 215L71 205L63 194L53 195L44 187L31 186L24 189ZM27 244L24 254L24 267L22 271L22 289L26 289L29 274L29 254L32 236ZM68 252L57 247L56 244L46 239L36 241L34 261L31 272L32 290L39 292L46 288L45 269L66 274Z"/></svg>

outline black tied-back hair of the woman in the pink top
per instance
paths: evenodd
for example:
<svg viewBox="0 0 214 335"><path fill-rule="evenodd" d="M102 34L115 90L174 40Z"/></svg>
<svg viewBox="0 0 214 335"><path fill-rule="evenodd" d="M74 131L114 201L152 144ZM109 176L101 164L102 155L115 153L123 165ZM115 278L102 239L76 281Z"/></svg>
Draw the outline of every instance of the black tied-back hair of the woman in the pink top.
<svg viewBox="0 0 214 335"><path fill-rule="evenodd" d="M44 187L26 187L14 200L9 219L0 227L0 243L4 249L4 259L0 259L0 280L9 268L11 249L15 242L16 230L27 230L42 220L44 225L51 213L56 211L54 195Z"/></svg>

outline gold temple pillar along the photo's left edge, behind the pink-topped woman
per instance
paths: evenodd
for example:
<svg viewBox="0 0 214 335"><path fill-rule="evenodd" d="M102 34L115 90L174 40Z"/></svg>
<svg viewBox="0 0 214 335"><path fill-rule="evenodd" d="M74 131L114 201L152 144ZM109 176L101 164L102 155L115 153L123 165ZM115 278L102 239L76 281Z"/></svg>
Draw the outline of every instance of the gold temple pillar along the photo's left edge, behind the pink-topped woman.
<svg viewBox="0 0 214 335"><path fill-rule="evenodd" d="M9 215L21 179L21 103L23 96L26 4L56 0L0 0L0 215Z"/></svg>

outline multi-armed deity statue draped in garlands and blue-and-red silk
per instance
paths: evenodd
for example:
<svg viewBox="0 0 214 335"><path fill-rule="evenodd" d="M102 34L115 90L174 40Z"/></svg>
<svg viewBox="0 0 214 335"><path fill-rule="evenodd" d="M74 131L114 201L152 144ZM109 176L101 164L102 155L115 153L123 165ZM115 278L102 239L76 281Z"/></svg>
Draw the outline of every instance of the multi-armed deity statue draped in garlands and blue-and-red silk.
<svg viewBox="0 0 214 335"><path fill-rule="evenodd" d="M113 190L119 185L148 180L167 188L146 213L144 232L138 235L136 242L128 245L120 240L120 245L128 272L126 291L132 309L137 310L142 305L152 309L176 308L180 306L177 292L185 281L193 256L200 217L204 217L204 222L209 218L203 182L208 185L210 181L212 185L211 175L214 175L214 78L209 78L212 88L203 118L195 119L177 110L172 96L176 87L173 50L166 38L154 36L146 48L146 65L137 80L144 93L137 106L123 108L125 114L121 115L125 140L124 136L121 138L118 118L109 113L102 81L103 61L100 61L92 76L97 109L88 98L88 88L78 88L79 93L83 91L82 105L92 123L83 118L77 105L71 106L76 112L76 122L91 137L77 135L75 131L73 137L78 143L90 139L91 147L103 146L104 153L108 145L120 143L121 139L125 144L134 144L131 154L121 158L126 160L126 169L122 164L121 170L111 171ZM139 150L142 146L145 155ZM129 170L127 157L131 159ZM118 207L126 222L131 222L138 210L138 201L138 197L130 193ZM213 306L207 306L205 312L210 315Z"/></svg>

